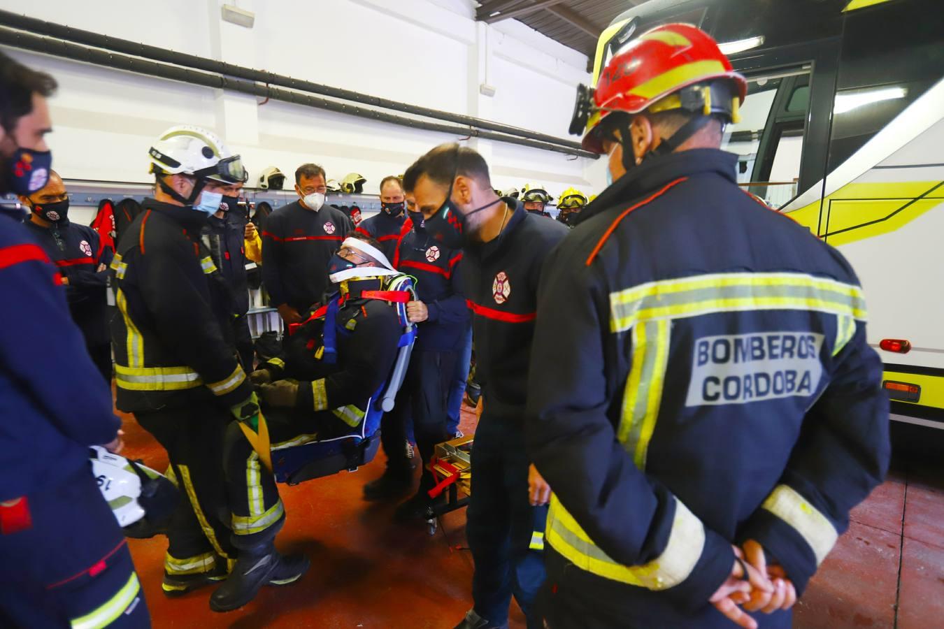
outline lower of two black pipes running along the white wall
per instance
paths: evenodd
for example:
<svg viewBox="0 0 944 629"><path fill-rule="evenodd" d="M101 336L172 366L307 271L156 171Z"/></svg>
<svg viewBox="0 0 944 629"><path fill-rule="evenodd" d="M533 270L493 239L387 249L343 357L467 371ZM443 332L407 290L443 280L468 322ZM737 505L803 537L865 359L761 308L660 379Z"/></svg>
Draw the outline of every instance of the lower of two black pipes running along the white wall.
<svg viewBox="0 0 944 629"><path fill-rule="evenodd" d="M71 41L62 41L50 37L30 35L28 33L6 27L0 27L0 43L6 43L17 48L53 55L55 57L67 58L74 61L85 61L88 63L93 63L94 65L114 68L117 70L125 70L127 72L136 74L157 76L160 78L180 81L182 83L189 83L191 85L198 85L207 88L240 91L242 93L271 98L285 103L293 103L295 105L326 109L329 111L344 113L351 116L358 116L382 123L400 124L426 131L436 131L439 133L447 133L464 137L476 137L483 140L503 141L521 146L542 149L545 151L563 153L565 155L594 158L599 157L598 155L588 151L584 151L582 149L576 150L568 146L562 146L560 144L552 144L546 141L510 136L472 127L457 126L454 124L430 123L429 121L406 118L404 116L397 116L385 111L355 107L346 103L340 103L338 101L332 101L326 98L319 98L298 91L281 90L279 88L260 85L255 81L232 78L229 76L223 76L221 74L189 70L166 63L159 63L157 61L132 58L126 55L109 53L104 50L83 46Z"/></svg>

